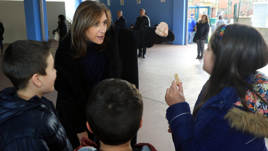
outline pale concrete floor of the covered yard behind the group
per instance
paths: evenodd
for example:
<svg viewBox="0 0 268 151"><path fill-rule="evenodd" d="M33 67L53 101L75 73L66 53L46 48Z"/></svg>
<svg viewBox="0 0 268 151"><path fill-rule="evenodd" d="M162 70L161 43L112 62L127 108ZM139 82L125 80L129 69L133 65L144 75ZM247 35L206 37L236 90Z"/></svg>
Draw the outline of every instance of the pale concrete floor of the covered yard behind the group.
<svg viewBox="0 0 268 151"><path fill-rule="evenodd" d="M4 44L4 49L5 47L7 44ZM55 47L57 43L54 42L52 49ZM52 50L52 55L55 55L55 50ZM203 60L195 59L196 56L196 44L188 46L157 44L147 48L147 58L138 58L139 87L144 98L143 125L138 131L138 143L150 143L159 151L175 150L172 136L167 132L168 124L165 115L168 105L164 96L166 89L174 80L174 73L177 73L183 83L186 101L193 110L197 96L209 78L208 73L202 70ZM268 66L260 71L268 75ZM0 90L12 86L2 70L0 79ZM44 96L55 104L57 91L54 90Z"/></svg>

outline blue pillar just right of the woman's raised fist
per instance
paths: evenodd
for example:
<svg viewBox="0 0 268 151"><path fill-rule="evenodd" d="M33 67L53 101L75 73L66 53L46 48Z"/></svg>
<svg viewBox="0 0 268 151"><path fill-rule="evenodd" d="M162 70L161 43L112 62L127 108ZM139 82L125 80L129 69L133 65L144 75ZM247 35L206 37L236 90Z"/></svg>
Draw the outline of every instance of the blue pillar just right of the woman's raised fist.
<svg viewBox="0 0 268 151"><path fill-rule="evenodd" d="M188 0L173 1L173 44L185 45L188 31Z"/></svg>

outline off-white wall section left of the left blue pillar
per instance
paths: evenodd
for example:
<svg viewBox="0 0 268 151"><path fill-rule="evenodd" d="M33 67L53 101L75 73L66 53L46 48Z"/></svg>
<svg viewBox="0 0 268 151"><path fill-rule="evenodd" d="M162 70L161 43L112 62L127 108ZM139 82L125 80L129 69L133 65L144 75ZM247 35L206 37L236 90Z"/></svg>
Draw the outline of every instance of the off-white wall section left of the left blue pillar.
<svg viewBox="0 0 268 151"><path fill-rule="evenodd" d="M0 1L0 19L4 26L3 43L27 39L23 1Z"/></svg>

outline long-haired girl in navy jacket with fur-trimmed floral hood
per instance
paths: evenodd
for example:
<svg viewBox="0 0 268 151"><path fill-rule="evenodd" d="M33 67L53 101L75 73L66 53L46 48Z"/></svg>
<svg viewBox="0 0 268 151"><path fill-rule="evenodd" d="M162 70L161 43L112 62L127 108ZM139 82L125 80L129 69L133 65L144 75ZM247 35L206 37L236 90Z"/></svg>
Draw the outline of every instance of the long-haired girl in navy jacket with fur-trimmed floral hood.
<svg viewBox="0 0 268 151"><path fill-rule="evenodd" d="M258 30L220 25L205 51L210 74L191 113L182 82L166 90L166 118L176 150L263 151L268 137L268 47Z"/></svg>

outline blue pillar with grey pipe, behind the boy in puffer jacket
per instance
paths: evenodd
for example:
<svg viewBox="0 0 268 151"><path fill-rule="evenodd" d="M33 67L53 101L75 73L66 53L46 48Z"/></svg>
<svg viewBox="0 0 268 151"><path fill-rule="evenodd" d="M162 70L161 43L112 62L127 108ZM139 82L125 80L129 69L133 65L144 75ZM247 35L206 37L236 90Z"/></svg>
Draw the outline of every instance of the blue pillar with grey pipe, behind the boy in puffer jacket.
<svg viewBox="0 0 268 151"><path fill-rule="evenodd" d="M45 40L48 39L46 0L43 1ZM39 0L24 0L27 39L42 41L42 26Z"/></svg>

